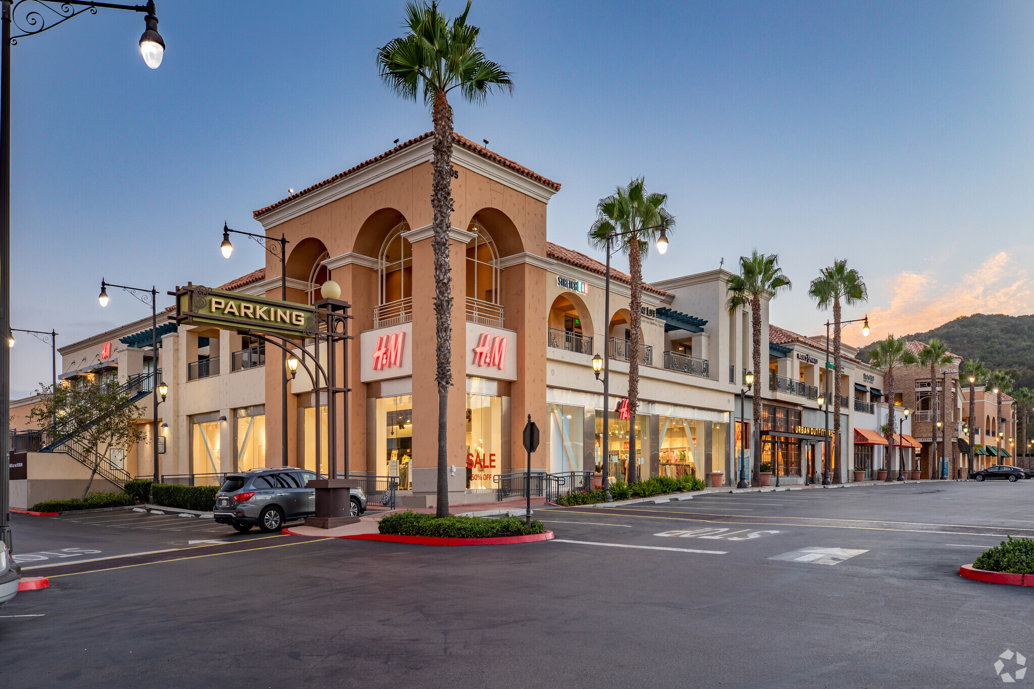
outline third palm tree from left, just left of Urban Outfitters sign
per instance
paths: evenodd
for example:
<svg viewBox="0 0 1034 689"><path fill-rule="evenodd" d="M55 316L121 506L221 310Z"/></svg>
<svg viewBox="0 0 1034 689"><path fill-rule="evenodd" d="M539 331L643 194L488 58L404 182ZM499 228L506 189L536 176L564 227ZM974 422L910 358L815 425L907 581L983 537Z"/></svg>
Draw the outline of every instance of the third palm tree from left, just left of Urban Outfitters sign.
<svg viewBox="0 0 1034 689"><path fill-rule="evenodd" d="M730 275L726 281L729 289L727 307L732 313L740 307L751 307L751 335L753 351L751 356L754 366L754 402L751 404L754 413L754 446L758 447L761 430L761 300L773 300L782 291L790 290L793 285L790 278L783 274L779 267L779 255L765 255L755 249L750 257L739 257L739 275ZM777 458L778 459L778 458ZM752 483L760 482L761 452L754 453L754 466L751 469Z"/></svg>

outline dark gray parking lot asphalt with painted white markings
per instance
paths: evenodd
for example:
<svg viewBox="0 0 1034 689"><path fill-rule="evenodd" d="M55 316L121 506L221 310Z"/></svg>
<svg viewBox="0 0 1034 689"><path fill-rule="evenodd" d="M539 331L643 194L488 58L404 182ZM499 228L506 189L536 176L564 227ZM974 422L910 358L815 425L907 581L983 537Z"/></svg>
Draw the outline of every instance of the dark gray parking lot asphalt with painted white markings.
<svg viewBox="0 0 1034 689"><path fill-rule="evenodd" d="M199 543L49 573L0 609L0 674L12 687L990 686L1007 650L1034 658L1034 589L957 570L1034 527L1032 498L1034 481L712 494L537 509L556 539L522 545Z"/></svg>

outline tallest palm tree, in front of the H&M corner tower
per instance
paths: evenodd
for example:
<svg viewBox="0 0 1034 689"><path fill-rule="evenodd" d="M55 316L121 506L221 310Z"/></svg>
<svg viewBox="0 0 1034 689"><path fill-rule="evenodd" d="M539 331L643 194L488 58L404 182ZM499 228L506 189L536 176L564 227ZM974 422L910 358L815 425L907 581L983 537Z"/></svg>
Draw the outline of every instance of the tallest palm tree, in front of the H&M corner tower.
<svg viewBox="0 0 1034 689"><path fill-rule="evenodd" d="M431 207L434 211L434 317L437 346L434 382L438 386L437 515L449 515L449 445L447 442L449 387L452 385L452 275L449 267L449 228L452 225L453 117L449 93L459 89L474 103L484 102L494 90L513 91L511 74L490 61L478 46L478 27L466 23L470 3L450 22L436 1L405 5L404 36L377 52L381 79L408 100L422 97L434 123Z"/></svg>

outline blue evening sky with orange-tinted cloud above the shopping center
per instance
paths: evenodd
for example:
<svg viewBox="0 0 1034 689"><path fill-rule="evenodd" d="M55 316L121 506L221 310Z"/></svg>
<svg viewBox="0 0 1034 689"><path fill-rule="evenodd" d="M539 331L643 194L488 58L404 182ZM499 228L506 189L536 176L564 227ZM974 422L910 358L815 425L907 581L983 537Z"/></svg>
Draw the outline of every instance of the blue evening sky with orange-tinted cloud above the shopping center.
<svg viewBox="0 0 1034 689"><path fill-rule="evenodd" d="M449 0L447 11L462 4ZM223 220L430 128L378 81L402 3L159 0L101 9L12 48L12 316L60 344L149 315L97 305L101 276L172 289L263 264ZM644 175L677 232L647 279L776 252L794 282L773 322L816 333L808 282L834 257L864 276L874 335L975 311L1030 313L1034 4L476 2L513 96L455 102L456 129L562 189L549 238L589 250L596 201ZM171 304L171 301L166 301ZM12 350L11 394L50 378Z"/></svg>

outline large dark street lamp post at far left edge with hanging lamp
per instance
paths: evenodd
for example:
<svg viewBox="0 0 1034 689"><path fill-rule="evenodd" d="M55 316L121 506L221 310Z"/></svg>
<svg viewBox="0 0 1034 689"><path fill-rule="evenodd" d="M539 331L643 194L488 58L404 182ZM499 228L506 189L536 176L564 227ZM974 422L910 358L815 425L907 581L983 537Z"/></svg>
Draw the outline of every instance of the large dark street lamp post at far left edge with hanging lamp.
<svg viewBox="0 0 1034 689"><path fill-rule="evenodd" d="M24 17L19 7L29 2ZM55 5L55 6L52 6ZM82 9L75 9L81 7ZM158 18L154 0L146 5L116 5L107 2L84 2L64 0L63 2L42 2L40 0L0 0L0 333L10 332L10 46L19 38L32 36L53 29L72 17L89 10L97 13L97 7L128 9L147 12L145 30L140 37L141 54L148 67L156 69L161 64L165 41L158 34ZM20 22L21 19L21 22ZM21 32L12 35L11 24ZM24 24L24 26L23 26ZM0 347L0 539L11 549L10 498L9 498L9 450L10 445L10 352Z"/></svg>

